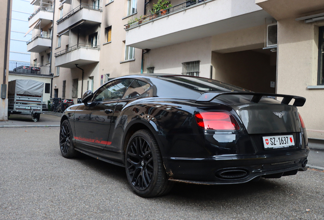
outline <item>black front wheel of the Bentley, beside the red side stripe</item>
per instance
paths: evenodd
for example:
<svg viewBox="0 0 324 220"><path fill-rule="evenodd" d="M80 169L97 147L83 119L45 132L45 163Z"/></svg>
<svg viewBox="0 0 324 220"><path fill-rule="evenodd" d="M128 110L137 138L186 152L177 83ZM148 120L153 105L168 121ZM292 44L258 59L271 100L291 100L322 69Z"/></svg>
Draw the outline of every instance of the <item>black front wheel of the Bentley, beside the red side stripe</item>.
<svg viewBox="0 0 324 220"><path fill-rule="evenodd" d="M63 121L60 127L60 150L65 158L73 158L77 155L72 142L72 129L68 120Z"/></svg>

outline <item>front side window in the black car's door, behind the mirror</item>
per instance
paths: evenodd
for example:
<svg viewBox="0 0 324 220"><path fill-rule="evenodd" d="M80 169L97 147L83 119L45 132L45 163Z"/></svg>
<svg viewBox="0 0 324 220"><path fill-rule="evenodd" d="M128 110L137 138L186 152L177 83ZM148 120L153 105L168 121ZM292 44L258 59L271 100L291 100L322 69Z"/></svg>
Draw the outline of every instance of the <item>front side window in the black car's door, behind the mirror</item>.
<svg viewBox="0 0 324 220"><path fill-rule="evenodd" d="M121 99L123 97L124 92L129 87L133 79L124 78L118 79L110 82L109 84L101 87L92 101L108 101L114 99Z"/></svg>

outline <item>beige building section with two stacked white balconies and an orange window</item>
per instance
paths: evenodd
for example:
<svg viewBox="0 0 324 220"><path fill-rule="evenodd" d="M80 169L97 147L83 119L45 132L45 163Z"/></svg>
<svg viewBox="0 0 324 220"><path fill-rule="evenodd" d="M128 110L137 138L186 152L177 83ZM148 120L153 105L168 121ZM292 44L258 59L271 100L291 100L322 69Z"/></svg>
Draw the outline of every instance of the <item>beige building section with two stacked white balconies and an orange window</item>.
<svg viewBox="0 0 324 220"><path fill-rule="evenodd" d="M131 1L56 1L54 97L76 103L85 91L96 90L110 78L140 72L141 50L125 46L124 24L134 13L136 4Z"/></svg>

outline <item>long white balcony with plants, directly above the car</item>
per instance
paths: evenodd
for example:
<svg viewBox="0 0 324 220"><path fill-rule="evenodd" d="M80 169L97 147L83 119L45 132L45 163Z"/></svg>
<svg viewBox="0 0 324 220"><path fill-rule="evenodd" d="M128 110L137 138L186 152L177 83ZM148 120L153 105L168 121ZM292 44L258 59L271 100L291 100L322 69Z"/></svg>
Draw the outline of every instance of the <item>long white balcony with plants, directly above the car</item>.
<svg viewBox="0 0 324 220"><path fill-rule="evenodd" d="M126 45L154 49L201 39L273 20L255 4L255 0L197 0L168 9L166 14L153 14L125 25Z"/></svg>

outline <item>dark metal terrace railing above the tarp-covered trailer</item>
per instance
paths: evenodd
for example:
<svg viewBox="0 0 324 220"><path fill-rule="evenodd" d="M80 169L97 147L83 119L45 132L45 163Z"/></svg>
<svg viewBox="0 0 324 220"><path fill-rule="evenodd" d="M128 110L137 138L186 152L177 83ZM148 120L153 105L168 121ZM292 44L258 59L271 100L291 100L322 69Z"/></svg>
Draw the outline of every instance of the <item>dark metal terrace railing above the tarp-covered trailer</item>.
<svg viewBox="0 0 324 220"><path fill-rule="evenodd" d="M26 75L53 75L50 73L49 66L34 65L31 63L21 63L14 61L9 61L9 72Z"/></svg>

